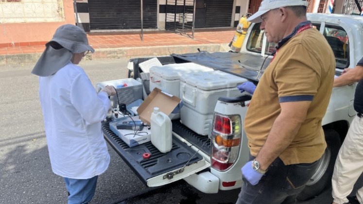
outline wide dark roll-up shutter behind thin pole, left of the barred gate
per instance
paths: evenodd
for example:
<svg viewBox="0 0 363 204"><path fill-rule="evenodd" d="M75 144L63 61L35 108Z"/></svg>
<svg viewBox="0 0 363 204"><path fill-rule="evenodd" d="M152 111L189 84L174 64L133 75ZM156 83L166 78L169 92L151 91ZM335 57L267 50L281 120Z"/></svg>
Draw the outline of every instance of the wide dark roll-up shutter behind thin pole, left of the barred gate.
<svg viewBox="0 0 363 204"><path fill-rule="evenodd" d="M91 30L141 29L140 0L88 0ZM157 0L143 0L143 28L157 28Z"/></svg>

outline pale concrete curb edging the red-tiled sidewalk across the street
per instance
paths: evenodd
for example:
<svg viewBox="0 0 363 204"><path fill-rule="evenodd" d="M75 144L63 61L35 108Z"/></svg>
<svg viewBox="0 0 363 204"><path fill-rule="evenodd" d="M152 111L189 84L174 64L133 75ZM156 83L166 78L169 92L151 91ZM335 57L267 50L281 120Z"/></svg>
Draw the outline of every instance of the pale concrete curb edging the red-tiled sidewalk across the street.
<svg viewBox="0 0 363 204"><path fill-rule="evenodd" d="M201 51L216 52L228 51L228 44L201 44L201 45L173 45L153 47L125 47L125 48L99 48L95 53L89 54L85 59L117 59L136 58L145 56L163 56L170 54L185 54ZM0 65L17 65L22 63L36 63L42 53L5 54L0 55Z"/></svg>

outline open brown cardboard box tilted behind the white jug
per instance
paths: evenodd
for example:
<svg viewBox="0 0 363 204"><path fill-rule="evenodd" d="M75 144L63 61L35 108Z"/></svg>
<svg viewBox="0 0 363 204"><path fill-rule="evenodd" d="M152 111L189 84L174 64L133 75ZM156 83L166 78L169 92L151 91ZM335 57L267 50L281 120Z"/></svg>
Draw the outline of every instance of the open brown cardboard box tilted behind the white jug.
<svg viewBox="0 0 363 204"><path fill-rule="evenodd" d="M150 125L151 114L155 107L158 107L161 112L169 116L172 112L175 112L174 109L180 107L180 101L180 98L163 92L158 88L154 88L145 101L138 107L139 118L145 124Z"/></svg>

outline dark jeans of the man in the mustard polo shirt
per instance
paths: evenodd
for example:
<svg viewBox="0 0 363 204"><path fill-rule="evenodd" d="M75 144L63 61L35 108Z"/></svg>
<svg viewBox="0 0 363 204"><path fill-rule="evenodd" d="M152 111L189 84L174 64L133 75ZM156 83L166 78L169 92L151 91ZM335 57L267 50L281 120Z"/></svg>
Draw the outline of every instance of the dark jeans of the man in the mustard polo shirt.
<svg viewBox="0 0 363 204"><path fill-rule="evenodd" d="M254 158L250 155L249 161ZM297 194L304 189L317 167L318 162L284 165L277 157L256 186L242 176L237 204L295 204Z"/></svg>

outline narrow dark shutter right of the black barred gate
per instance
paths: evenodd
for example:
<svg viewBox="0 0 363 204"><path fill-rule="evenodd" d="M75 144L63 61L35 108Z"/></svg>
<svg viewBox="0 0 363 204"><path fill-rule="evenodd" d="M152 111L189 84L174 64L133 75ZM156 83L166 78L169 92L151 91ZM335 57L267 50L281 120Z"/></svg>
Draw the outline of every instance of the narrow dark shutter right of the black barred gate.
<svg viewBox="0 0 363 204"><path fill-rule="evenodd" d="M207 0L206 28L230 27L233 0Z"/></svg>

